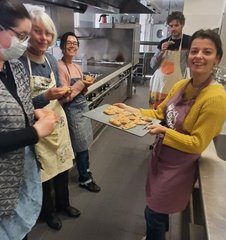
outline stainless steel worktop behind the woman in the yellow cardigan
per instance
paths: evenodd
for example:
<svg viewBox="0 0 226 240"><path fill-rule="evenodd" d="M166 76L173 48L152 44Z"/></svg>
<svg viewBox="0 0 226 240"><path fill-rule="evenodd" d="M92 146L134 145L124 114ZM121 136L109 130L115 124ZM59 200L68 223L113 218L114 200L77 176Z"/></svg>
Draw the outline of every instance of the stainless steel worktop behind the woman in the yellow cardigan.
<svg viewBox="0 0 226 240"><path fill-rule="evenodd" d="M226 161L218 157L213 141L202 154L199 173L207 239L225 240Z"/></svg>

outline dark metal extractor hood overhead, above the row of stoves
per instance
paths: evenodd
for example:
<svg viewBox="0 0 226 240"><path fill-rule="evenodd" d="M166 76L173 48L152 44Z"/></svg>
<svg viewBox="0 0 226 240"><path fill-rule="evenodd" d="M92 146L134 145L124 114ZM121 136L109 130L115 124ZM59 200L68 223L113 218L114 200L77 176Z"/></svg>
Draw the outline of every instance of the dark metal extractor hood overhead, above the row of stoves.
<svg viewBox="0 0 226 240"><path fill-rule="evenodd" d="M112 13L156 13L152 8L143 5L139 0L33 0L46 4L72 8L75 12L84 13L87 6L92 6Z"/></svg>

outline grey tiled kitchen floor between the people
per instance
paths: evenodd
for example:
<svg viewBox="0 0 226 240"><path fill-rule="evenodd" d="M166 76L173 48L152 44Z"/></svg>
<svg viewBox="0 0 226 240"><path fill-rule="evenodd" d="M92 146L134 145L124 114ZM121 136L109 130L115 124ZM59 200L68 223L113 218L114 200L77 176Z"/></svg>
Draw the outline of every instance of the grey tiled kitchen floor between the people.
<svg viewBox="0 0 226 240"><path fill-rule="evenodd" d="M129 103L147 107L148 84L138 85ZM151 135L143 138L107 127L90 150L91 170L100 193L80 189L77 173L70 174L71 205L81 210L78 219L60 215L63 227L54 231L38 222L29 240L140 240L145 233L145 177ZM172 218L168 239L180 240L180 215Z"/></svg>

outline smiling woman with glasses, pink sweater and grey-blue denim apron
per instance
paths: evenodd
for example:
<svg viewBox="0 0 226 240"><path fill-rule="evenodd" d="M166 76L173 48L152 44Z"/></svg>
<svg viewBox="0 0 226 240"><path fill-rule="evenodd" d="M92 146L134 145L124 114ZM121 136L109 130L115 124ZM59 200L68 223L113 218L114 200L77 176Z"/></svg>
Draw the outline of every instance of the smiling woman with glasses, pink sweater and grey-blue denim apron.
<svg viewBox="0 0 226 240"><path fill-rule="evenodd" d="M82 69L72 62L77 53L79 41L74 33L67 32L61 38L60 48L63 58L58 62L60 80L63 86L70 87L72 92L62 99L67 115L72 147L76 155L76 165L79 173L80 187L99 192L100 187L93 181L89 169L89 145L92 142L92 126L88 118L82 114L88 111L88 105L84 96L84 90L93 84L83 80Z"/></svg>

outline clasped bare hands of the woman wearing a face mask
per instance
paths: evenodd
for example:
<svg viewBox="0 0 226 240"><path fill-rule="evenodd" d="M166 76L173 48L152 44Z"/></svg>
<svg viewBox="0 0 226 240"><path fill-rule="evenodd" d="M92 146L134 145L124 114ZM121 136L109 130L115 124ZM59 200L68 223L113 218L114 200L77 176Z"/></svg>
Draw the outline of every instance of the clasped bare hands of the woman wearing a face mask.
<svg viewBox="0 0 226 240"><path fill-rule="evenodd" d="M47 109L36 109L34 111L36 122L33 125L39 138L50 135L59 121L57 114Z"/></svg>

